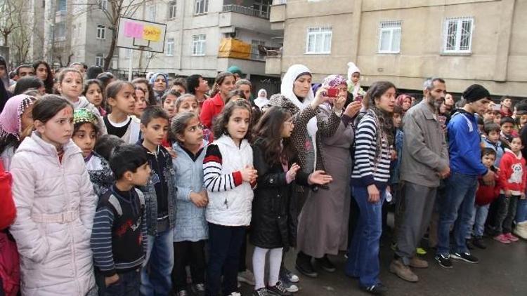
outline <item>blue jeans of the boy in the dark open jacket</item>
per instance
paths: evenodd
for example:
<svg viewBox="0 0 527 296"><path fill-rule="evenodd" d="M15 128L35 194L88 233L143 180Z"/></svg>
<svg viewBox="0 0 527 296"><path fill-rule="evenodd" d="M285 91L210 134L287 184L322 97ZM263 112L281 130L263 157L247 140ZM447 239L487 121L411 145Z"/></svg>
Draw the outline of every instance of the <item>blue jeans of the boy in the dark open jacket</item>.
<svg viewBox="0 0 527 296"><path fill-rule="evenodd" d="M174 267L174 229L148 235L145 263L141 270L141 294L145 296L169 295Z"/></svg>

